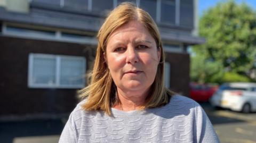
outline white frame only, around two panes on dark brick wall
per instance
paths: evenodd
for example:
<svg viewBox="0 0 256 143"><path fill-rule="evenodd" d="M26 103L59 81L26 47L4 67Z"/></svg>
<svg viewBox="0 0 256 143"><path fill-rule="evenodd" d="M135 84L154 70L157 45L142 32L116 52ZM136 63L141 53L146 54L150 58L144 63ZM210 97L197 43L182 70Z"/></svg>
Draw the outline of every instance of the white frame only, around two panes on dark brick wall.
<svg viewBox="0 0 256 143"><path fill-rule="evenodd" d="M42 58L55 58L56 66L55 66L55 83L33 83L33 64L35 57L42 57ZM61 58L72 58L78 59L83 61L83 69L82 72L85 75L86 71L86 58L82 56L67 56L67 55L52 55L52 54L37 54L37 53L30 53L28 59L28 87L29 88L83 88L85 86L85 76L82 76L82 84L81 85L60 85L60 65L61 65Z"/></svg>

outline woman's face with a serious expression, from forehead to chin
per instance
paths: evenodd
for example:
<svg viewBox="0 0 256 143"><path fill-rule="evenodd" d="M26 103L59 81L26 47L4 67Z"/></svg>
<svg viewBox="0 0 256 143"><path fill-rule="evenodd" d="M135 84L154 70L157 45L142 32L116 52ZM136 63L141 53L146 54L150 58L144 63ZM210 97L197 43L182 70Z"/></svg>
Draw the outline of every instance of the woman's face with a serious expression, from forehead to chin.
<svg viewBox="0 0 256 143"><path fill-rule="evenodd" d="M110 35L105 58L118 89L146 92L155 80L160 52L149 31L131 21Z"/></svg>

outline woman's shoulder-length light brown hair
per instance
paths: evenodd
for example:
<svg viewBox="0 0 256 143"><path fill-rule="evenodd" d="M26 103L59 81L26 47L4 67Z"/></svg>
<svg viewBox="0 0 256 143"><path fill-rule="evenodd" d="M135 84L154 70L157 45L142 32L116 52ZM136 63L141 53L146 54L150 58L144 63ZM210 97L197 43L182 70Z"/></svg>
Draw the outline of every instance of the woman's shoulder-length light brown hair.
<svg viewBox="0 0 256 143"><path fill-rule="evenodd" d="M151 85L150 95L148 95L143 108L158 107L169 102L172 92L164 87L164 53L156 23L146 11L139 9L132 3L126 2L110 12L99 30L99 43L91 72L91 82L89 86L79 91L80 97L86 98L86 102L82 105L83 110L103 110L108 115L111 115L111 107L118 102L118 99L116 98L115 83L105 62L104 52L106 51L107 41L111 33L132 20L141 22L145 26L155 39L156 45L161 52L156 77Z"/></svg>

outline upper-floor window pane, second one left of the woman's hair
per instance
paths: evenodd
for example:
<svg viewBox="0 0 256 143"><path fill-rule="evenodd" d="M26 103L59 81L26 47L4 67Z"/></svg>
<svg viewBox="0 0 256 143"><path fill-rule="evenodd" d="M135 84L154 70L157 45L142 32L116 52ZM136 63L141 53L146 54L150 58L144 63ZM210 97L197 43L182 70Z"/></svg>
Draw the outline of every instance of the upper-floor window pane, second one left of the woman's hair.
<svg viewBox="0 0 256 143"><path fill-rule="evenodd" d="M65 7L70 7L71 9L87 10L88 0L65 0Z"/></svg>

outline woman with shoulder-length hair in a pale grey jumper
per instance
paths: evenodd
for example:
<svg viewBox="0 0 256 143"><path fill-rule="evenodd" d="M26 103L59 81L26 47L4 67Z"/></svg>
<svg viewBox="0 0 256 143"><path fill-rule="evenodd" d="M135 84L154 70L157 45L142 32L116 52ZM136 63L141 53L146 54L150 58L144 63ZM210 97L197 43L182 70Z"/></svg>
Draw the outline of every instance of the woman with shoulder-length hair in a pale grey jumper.
<svg viewBox="0 0 256 143"><path fill-rule="evenodd" d="M91 83L59 142L219 142L196 102L164 88L163 47L148 13L119 5L98 39Z"/></svg>

